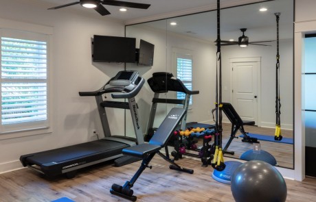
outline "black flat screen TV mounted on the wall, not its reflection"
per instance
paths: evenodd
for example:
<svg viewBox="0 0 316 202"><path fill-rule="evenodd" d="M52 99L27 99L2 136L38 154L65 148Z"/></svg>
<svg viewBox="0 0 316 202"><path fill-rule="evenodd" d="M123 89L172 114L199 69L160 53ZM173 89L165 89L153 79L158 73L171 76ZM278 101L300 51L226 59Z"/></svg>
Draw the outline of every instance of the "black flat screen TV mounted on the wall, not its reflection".
<svg viewBox="0 0 316 202"><path fill-rule="evenodd" d="M136 38L93 36L93 62L135 62Z"/></svg>

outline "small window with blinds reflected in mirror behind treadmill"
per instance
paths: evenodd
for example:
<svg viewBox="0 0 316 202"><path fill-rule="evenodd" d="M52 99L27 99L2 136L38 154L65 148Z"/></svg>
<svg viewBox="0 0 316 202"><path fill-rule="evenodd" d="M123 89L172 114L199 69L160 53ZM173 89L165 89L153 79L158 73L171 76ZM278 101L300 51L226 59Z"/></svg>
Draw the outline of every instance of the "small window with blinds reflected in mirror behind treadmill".
<svg viewBox="0 0 316 202"><path fill-rule="evenodd" d="M192 55L176 53L177 78L180 79L186 88L192 90ZM185 99L183 92L177 92L177 99ZM192 105L190 97L189 105Z"/></svg>

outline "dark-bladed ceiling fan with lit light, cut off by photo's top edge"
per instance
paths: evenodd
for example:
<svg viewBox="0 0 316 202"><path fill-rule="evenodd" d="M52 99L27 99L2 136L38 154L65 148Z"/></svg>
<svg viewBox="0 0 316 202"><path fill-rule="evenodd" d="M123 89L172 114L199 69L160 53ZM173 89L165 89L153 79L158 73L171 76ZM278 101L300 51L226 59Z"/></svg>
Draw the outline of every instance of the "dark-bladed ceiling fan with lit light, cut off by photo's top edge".
<svg viewBox="0 0 316 202"><path fill-rule="evenodd" d="M67 3L65 5L58 5L53 8L48 8L48 10L56 10L58 8L64 8L70 5L81 4L85 8L93 8L96 12L101 14L102 16L111 14L109 10L106 10L103 5L115 5L115 6L122 6L128 8L140 8L140 9L147 9L149 8L150 4L146 3L133 3L127 1L115 1L115 0L80 0L73 3ZM103 4L103 5L102 5Z"/></svg>

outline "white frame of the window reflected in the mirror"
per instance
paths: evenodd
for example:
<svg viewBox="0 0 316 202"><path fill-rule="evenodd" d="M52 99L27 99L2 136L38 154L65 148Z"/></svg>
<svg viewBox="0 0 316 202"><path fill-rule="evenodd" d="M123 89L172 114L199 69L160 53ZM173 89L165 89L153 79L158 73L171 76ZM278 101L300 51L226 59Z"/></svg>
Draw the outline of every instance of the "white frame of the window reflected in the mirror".
<svg viewBox="0 0 316 202"><path fill-rule="evenodd" d="M181 79L181 81L183 82L183 84L191 84L192 88L193 88L193 68L194 68L194 60L193 60L193 51L188 50L188 49L179 49L179 48L172 48L172 52L173 52L173 63L174 63L174 73L175 73L175 77L177 77L178 79L181 79L181 77L179 77L178 74L178 65L177 65L177 60L178 58L182 58L182 59L188 59L192 61L192 67L191 67L191 81L185 81L183 79ZM188 88L189 90L192 90L192 88ZM180 92L181 93L181 92ZM178 93L175 95L175 97L177 97L177 99L179 99L178 97ZM190 103L189 103L189 108L192 109L192 104L193 104L193 99L192 96L190 97Z"/></svg>

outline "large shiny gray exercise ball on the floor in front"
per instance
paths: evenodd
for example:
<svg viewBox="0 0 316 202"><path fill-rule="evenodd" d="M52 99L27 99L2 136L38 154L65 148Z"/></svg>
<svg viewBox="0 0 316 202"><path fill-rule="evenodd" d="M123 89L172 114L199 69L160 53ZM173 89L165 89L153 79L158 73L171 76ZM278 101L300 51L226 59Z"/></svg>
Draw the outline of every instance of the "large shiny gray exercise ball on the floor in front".
<svg viewBox="0 0 316 202"><path fill-rule="evenodd" d="M259 160L245 162L236 168L231 189L236 202L283 202L287 194L281 173Z"/></svg>

